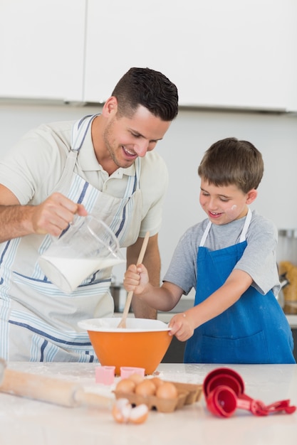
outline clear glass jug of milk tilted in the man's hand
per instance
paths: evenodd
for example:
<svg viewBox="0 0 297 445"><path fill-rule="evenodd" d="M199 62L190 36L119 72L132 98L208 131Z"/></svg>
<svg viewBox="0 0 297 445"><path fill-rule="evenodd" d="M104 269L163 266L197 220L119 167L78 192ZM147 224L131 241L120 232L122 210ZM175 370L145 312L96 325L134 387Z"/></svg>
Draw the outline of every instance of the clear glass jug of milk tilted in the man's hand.
<svg viewBox="0 0 297 445"><path fill-rule="evenodd" d="M124 261L115 234L91 215L78 217L38 259L46 277L66 293L94 272Z"/></svg>

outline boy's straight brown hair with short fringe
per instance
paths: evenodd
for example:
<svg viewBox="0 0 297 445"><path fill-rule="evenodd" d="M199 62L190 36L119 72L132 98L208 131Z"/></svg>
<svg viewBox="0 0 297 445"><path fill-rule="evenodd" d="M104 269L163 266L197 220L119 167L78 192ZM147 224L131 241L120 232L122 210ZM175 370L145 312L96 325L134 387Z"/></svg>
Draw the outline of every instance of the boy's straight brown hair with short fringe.
<svg viewBox="0 0 297 445"><path fill-rule="evenodd" d="M264 173L262 155L248 141L229 137L217 141L205 152L198 168L204 181L214 186L235 185L244 193L258 188Z"/></svg>

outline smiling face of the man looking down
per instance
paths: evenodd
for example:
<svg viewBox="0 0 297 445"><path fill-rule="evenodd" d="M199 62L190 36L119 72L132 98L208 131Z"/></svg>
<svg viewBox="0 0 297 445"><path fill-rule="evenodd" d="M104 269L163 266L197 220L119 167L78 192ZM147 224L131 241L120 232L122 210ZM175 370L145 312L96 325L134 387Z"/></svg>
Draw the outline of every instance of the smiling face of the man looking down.
<svg viewBox="0 0 297 445"><path fill-rule="evenodd" d="M113 115L103 132L105 147L116 166L130 167L138 156L143 157L155 148L170 124L142 106L131 118Z"/></svg>

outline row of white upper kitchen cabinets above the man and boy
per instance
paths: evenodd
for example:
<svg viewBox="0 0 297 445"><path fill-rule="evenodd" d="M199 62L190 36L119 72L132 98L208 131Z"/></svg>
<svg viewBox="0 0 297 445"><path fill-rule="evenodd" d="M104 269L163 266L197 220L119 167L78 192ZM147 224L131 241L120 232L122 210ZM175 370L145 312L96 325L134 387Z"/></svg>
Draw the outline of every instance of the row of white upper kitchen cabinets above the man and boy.
<svg viewBox="0 0 297 445"><path fill-rule="evenodd" d="M297 110L294 0L1 0L0 97L105 102L132 66L189 107Z"/></svg>

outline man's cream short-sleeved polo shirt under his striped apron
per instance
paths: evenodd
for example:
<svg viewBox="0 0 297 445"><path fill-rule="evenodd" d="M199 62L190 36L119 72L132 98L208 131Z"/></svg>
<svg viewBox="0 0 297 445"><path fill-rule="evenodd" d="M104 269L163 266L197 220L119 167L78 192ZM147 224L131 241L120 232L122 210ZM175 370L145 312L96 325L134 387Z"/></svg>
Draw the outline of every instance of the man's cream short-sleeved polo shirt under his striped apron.
<svg viewBox="0 0 297 445"><path fill-rule="evenodd" d="M43 124L25 134L0 160L0 183L16 195L21 205L38 205L53 193L71 149L74 123ZM155 150L147 152L140 161L142 223L139 235L144 237L147 230L150 230L150 235L160 230L168 172L165 161ZM75 172L98 190L122 198L127 177L135 176L135 166L118 168L109 176L96 159L89 128L78 154Z"/></svg>

